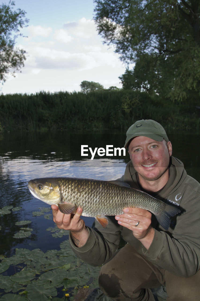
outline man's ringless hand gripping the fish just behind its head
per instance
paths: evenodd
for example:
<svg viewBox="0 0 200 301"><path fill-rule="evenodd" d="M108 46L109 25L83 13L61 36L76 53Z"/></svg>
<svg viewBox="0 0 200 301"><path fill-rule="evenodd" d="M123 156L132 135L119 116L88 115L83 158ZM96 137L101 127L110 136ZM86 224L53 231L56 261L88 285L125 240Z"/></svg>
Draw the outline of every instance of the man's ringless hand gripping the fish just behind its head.
<svg viewBox="0 0 200 301"><path fill-rule="evenodd" d="M85 227L85 222L80 219L83 209L77 208L74 215L64 214L60 212L58 206L51 205L53 212L53 221L56 223L59 229L70 230L77 247L82 247L88 238L88 230Z"/></svg>

